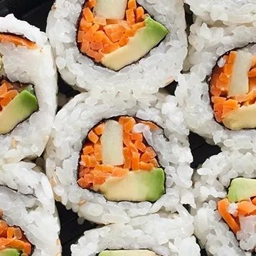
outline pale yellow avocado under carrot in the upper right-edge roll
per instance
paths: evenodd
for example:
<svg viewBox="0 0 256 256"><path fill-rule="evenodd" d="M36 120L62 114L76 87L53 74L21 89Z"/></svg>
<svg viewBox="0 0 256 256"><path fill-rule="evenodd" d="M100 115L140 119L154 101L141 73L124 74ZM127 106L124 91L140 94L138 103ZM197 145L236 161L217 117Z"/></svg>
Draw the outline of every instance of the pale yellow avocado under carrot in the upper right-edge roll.
<svg viewBox="0 0 256 256"><path fill-rule="evenodd" d="M256 127L256 104L243 105L232 110L223 118L223 124L233 131L240 129L254 129Z"/></svg>

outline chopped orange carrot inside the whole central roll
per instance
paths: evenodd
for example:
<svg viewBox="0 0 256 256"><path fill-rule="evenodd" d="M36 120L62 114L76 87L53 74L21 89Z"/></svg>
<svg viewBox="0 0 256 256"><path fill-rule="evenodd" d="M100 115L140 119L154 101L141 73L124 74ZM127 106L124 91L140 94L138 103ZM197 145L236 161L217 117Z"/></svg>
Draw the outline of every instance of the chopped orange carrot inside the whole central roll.
<svg viewBox="0 0 256 256"><path fill-rule="evenodd" d="M123 177L129 171L151 171L159 167L155 159L156 152L151 146L146 145L143 134L132 132L134 124L144 121L133 117L118 117L117 122L122 125L123 129L123 164L120 166L102 164L100 138L104 132L105 122L98 124L88 133L82 149L78 175L78 184L82 188L93 189L93 186L101 186L105 183L107 178ZM149 121L145 121L145 124L153 125L154 129L157 127Z"/></svg>

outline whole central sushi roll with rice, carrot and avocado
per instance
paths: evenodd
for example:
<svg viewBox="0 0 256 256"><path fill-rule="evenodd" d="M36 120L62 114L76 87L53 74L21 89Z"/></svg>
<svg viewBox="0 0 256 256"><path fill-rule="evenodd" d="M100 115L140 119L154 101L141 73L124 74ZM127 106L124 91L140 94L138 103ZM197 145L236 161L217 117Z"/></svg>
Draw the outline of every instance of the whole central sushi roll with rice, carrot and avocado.
<svg viewBox="0 0 256 256"><path fill-rule="evenodd" d="M154 97L92 106L82 93L58 112L45 155L58 201L96 223L193 206L188 129L174 96Z"/></svg>

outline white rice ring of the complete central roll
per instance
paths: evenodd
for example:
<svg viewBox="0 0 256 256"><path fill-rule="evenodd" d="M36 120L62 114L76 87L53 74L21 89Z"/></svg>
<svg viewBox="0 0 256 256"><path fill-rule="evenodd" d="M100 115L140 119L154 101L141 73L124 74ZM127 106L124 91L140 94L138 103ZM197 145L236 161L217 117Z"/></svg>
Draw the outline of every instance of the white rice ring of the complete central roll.
<svg viewBox="0 0 256 256"><path fill-rule="evenodd" d="M118 100L92 101L92 96L82 93L68 102L55 117L53 129L46 147L46 172L52 181L55 198L68 209L95 223L127 223L130 218L156 213L161 208L174 210L178 203L194 206L190 167L192 161L188 146L188 129L183 122L176 98L157 94L151 105L130 100L129 105ZM159 98L159 100L157 100ZM164 99L164 100L162 100ZM151 120L164 128L151 134L144 131L147 142L159 156L159 163L166 174L166 194L156 203L110 202L99 193L82 189L77 183L78 159L82 141L87 133L102 119L119 115L131 115Z"/></svg>

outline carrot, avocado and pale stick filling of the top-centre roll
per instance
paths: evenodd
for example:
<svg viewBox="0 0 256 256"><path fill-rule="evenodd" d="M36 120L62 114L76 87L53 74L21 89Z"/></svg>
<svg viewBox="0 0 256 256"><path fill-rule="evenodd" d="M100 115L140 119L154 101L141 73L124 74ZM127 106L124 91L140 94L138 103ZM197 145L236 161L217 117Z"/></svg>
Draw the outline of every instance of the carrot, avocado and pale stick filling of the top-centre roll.
<svg viewBox="0 0 256 256"><path fill-rule="evenodd" d="M81 53L117 71L143 58L168 33L136 0L87 0L77 43Z"/></svg>

